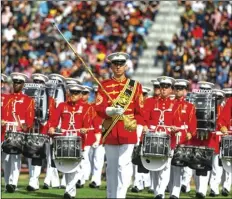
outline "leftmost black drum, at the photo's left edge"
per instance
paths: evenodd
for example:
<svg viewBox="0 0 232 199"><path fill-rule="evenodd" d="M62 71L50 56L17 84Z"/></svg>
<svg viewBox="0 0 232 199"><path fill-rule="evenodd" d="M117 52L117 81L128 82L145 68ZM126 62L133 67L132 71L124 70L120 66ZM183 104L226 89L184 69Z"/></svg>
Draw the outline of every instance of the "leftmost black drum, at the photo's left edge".
<svg viewBox="0 0 232 199"><path fill-rule="evenodd" d="M25 143L25 133L6 131L2 150L7 154L21 154Z"/></svg>

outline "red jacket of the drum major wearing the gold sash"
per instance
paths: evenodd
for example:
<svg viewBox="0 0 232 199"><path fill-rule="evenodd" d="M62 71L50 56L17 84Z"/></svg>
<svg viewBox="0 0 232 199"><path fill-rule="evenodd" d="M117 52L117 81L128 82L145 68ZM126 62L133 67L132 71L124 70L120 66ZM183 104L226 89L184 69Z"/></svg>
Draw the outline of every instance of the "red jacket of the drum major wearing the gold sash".
<svg viewBox="0 0 232 199"><path fill-rule="evenodd" d="M109 80L105 80L102 82L102 86L106 90L106 92L110 95L110 97L115 100L119 93L123 90L127 79L117 81L116 79L112 78ZM97 114L102 117L102 119L110 118L106 115L106 108L111 106L112 102L108 99L106 94L99 89L97 98L96 98L96 111ZM144 124L143 121L143 94L142 94L142 87L141 84L137 84L135 95L128 106L127 110L124 112L124 115L129 115L130 118L134 118L137 121L137 124ZM133 132L127 131L124 128L124 122L119 120L115 126L113 127L112 131L105 139L105 144L112 144L112 145L121 145L121 144L135 144L137 142L137 135L136 130Z"/></svg>

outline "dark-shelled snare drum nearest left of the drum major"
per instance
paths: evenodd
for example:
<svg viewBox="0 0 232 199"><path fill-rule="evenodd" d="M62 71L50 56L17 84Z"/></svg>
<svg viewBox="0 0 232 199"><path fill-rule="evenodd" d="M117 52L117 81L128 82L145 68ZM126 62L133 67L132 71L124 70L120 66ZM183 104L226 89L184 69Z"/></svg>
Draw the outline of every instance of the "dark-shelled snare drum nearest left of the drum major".
<svg viewBox="0 0 232 199"><path fill-rule="evenodd" d="M55 159L80 161L82 158L82 139L79 136L55 136L53 147Z"/></svg>

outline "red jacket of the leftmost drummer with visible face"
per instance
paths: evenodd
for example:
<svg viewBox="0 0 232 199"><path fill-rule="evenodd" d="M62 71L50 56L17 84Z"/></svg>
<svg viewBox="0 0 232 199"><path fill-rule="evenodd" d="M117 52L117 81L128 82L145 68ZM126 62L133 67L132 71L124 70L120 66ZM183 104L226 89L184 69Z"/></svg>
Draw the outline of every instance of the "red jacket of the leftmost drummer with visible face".
<svg viewBox="0 0 232 199"><path fill-rule="evenodd" d="M13 114L14 111L15 114ZM4 101L2 108L2 120L6 122L16 122L18 125L20 125L20 123L21 125L26 124L28 128L24 132L28 132L28 130L33 127L34 117L34 100L31 97L24 95L22 92L8 95L7 101ZM22 131L22 128L18 126L17 132ZM2 132L2 139L4 136L5 132Z"/></svg>

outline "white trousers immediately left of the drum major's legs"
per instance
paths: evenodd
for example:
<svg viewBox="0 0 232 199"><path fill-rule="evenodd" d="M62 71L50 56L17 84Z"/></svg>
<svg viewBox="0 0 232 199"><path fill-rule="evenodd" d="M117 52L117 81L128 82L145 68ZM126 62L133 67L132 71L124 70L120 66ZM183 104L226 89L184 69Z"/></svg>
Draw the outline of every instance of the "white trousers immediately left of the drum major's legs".
<svg viewBox="0 0 232 199"><path fill-rule="evenodd" d="M91 147L93 152L93 170L91 182L95 182L97 186L101 185L102 168L104 165L105 148L100 145L97 148Z"/></svg>

